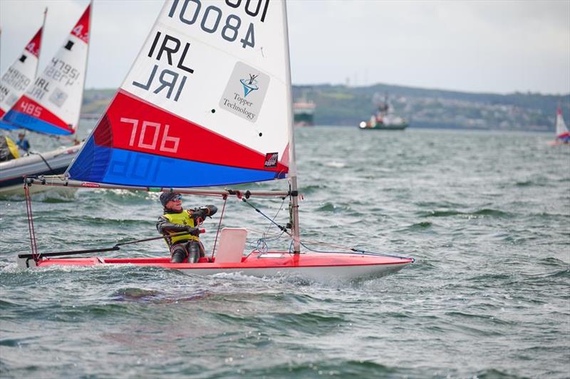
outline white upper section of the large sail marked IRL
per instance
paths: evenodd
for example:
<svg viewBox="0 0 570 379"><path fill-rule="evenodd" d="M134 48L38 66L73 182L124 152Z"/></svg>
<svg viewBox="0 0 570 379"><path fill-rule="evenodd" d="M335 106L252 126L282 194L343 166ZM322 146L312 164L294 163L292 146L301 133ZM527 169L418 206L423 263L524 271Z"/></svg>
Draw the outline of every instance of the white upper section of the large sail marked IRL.
<svg viewBox="0 0 570 379"><path fill-rule="evenodd" d="M239 6L233 8L228 5L231 3ZM249 8L255 10L256 3L260 8L258 16L248 15L245 6L252 4ZM265 5L266 14L264 21L261 21L261 7ZM190 24L194 19L194 23ZM237 24L240 27L236 33L229 27L225 31L227 38L235 36L234 41L224 39L224 28ZM215 31L208 32L212 30ZM249 30L251 33L248 36ZM158 33L160 36L157 37ZM289 84L285 82L283 16L278 1L168 1L149 37L121 87L123 90L256 151L264 154L277 151L281 158L288 142L287 107L284 105L285 86ZM158 38L156 42L155 38ZM241 42L242 39L244 42ZM180 47L170 55L170 64L167 49L177 46L175 40L180 41ZM247 43L252 43L253 46ZM165 48L161 49L162 46ZM180 69L179 65L190 68L193 72ZM232 73L236 65L249 67L251 72L246 70L243 78L234 78ZM150 80L155 67L156 73ZM160 75L165 70L179 75L170 99L170 88L160 89ZM240 80L249 79L248 74L266 75L269 77L266 80L269 87L260 86L258 90L245 95L246 90ZM170 78L171 75L165 74L165 80ZM180 89L184 78L184 87ZM145 87L148 84L150 87L142 88L135 83L144 84ZM227 93L224 93L228 85L233 95L229 99L225 96ZM175 100L179 90L180 95ZM264 97L257 96L263 91L266 91ZM229 100L226 107L220 106L220 102L225 102L223 99ZM253 102L253 105L249 105L249 102ZM241 108L245 112L253 112L257 107L259 114L256 114L253 121L240 117L237 110Z"/></svg>

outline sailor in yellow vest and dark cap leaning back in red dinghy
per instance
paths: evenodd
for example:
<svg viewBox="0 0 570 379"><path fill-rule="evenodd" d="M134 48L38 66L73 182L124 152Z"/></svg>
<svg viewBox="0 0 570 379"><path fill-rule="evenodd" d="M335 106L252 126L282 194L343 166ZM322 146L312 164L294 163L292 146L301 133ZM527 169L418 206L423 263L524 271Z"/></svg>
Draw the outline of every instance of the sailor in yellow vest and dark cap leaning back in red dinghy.
<svg viewBox="0 0 570 379"><path fill-rule="evenodd" d="M158 218L156 228L158 233L165 235L166 243L170 247L170 262L182 263L186 259L189 263L198 262L205 252L204 245L198 238L197 227L206 217L214 215L218 208L206 205L202 208L182 209L182 195L176 192L163 192L160 195L160 203L164 208L164 215ZM170 237L180 232L188 234Z"/></svg>

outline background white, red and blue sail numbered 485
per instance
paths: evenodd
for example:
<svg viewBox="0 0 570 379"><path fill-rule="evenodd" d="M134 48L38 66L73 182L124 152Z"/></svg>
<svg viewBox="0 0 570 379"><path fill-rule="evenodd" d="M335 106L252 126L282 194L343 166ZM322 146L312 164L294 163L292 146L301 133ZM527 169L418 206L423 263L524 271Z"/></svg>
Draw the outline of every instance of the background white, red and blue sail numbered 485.
<svg viewBox="0 0 570 379"><path fill-rule="evenodd" d="M4 116L17 127L46 134L73 134L85 83L91 4L58 53Z"/></svg>

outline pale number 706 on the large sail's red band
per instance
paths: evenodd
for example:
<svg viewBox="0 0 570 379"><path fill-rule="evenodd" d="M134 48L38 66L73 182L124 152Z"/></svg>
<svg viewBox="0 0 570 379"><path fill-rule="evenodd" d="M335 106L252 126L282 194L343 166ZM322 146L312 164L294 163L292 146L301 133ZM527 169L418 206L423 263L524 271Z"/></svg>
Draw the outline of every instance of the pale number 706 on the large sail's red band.
<svg viewBox="0 0 570 379"><path fill-rule="evenodd" d="M125 124L132 124L133 129L130 132L129 146L137 146L140 149L157 150L158 140L160 138L160 146L158 151L165 153L176 153L178 151L178 144L180 137L172 137L168 135L170 125L159 124L157 122L142 121L140 132L138 130L138 119L128 119L121 117L120 119ZM138 134L138 138L137 138ZM152 142L149 143L149 140Z"/></svg>

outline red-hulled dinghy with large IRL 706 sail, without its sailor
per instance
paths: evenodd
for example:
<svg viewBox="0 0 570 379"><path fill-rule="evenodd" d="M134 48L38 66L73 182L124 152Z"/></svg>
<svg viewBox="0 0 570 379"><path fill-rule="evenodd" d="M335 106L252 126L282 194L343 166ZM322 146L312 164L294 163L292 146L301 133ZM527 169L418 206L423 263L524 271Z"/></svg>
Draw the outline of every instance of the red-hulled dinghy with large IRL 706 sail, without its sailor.
<svg viewBox="0 0 570 379"><path fill-rule="evenodd" d="M172 176L173 171L185 174ZM288 181L286 191L202 189L275 179ZM197 263L170 263L166 252L160 258L82 257L145 240L42 253L36 249L27 197L32 252L19 255L21 267L137 265L189 274L357 279L413 262L354 249L313 252L299 235L285 1L165 1L133 68L66 178L27 178L26 191L32 184L172 191L224 201L234 197L249 205L249 198L289 198L289 223L279 228L291 248L247 253L247 230L224 228L215 256L212 252Z"/></svg>

